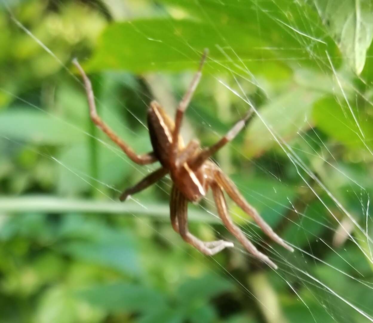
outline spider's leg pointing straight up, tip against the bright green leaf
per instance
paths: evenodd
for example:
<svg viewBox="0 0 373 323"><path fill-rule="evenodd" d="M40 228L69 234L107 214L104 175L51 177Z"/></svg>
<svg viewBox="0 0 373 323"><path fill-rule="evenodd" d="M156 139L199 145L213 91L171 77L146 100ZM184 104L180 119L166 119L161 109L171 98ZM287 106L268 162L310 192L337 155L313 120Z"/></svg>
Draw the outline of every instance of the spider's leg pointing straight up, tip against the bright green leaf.
<svg viewBox="0 0 373 323"><path fill-rule="evenodd" d="M200 66L198 67L197 73L195 73L192 82L189 85L188 90L186 91L185 95L181 99L178 105L178 109L176 110L176 115L175 115L175 128L173 129L172 133L172 145L171 145L171 163L174 164L176 155L178 153L178 140L179 140L179 132L181 128L181 123L183 119L184 112L186 108L189 105L189 102L194 94L195 89L197 88L198 83L200 82L201 76L202 76L202 67L203 64L206 61L207 54L209 53L209 50L205 48L203 51L203 55L200 61Z"/></svg>

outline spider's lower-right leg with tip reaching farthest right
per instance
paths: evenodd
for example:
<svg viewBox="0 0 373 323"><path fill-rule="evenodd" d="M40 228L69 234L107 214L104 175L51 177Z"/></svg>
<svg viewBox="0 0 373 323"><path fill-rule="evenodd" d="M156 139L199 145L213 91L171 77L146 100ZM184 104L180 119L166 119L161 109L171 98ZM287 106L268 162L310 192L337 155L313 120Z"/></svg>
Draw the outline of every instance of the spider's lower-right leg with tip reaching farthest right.
<svg viewBox="0 0 373 323"><path fill-rule="evenodd" d="M215 180L216 182L223 187L223 189L228 193L229 197L242 209L244 210L248 215L250 215L254 221L259 225L259 227L263 230L263 232L270 237L273 241L278 243L280 246L283 246L284 248L288 249L289 251L293 252L294 249L289 246L285 241L283 241L276 233L273 231L273 229L267 224L266 221L263 220L263 218L259 215L258 211L253 208L239 193L237 187L235 184L220 170L218 167L216 167L215 174Z"/></svg>

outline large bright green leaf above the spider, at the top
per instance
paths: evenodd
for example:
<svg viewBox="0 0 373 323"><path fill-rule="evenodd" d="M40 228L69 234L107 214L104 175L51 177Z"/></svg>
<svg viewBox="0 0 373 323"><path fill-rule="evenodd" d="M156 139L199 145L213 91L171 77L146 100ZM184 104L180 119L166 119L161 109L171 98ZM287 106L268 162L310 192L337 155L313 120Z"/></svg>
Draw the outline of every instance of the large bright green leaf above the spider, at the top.
<svg viewBox="0 0 373 323"><path fill-rule="evenodd" d="M210 73L233 70L279 79L288 69L286 58L301 58L298 64L318 67L314 57L326 59L326 49L338 55L320 16L306 1L160 2L176 14L111 24L101 35L89 68L136 73L195 69L207 47Z"/></svg>

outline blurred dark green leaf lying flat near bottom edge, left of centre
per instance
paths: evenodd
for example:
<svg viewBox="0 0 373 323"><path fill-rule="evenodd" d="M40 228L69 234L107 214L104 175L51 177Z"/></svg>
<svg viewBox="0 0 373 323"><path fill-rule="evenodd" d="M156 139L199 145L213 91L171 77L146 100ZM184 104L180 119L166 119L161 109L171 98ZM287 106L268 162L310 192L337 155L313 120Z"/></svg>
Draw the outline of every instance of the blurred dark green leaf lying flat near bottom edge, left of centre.
<svg viewBox="0 0 373 323"><path fill-rule="evenodd" d="M118 282L76 291L76 297L108 311L152 312L167 308L165 296L146 286ZM104 297L103 297L104 295ZM162 322L162 321L159 321Z"/></svg>

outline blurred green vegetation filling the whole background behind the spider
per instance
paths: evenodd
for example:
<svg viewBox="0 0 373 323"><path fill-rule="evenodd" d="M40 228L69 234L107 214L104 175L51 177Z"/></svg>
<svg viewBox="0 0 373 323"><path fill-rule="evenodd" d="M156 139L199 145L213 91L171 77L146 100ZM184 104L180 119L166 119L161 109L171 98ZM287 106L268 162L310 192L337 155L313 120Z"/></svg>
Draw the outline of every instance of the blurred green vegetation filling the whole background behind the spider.
<svg viewBox="0 0 373 323"><path fill-rule="evenodd" d="M0 2L0 322L373 322L372 3L365 0ZM236 243L205 257L169 223L169 178L128 200L134 165L90 122L150 151L147 104L173 115L203 48L185 139L215 156L294 254L233 203L279 265ZM276 139L276 140L275 140ZM211 196L198 237L232 239Z"/></svg>

